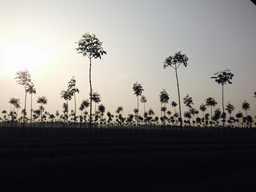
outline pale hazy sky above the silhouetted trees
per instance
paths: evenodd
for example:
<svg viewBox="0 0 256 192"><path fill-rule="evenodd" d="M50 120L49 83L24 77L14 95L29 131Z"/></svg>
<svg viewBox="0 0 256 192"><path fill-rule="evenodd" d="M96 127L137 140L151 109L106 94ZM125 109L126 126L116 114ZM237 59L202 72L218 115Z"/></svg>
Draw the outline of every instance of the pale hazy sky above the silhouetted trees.
<svg viewBox="0 0 256 192"><path fill-rule="evenodd" d="M90 85L89 59L77 54L76 42L84 33L93 33L107 52L101 60L92 60L92 88L101 95L106 112L115 114L123 106L124 116L133 113L137 97L132 86L138 81L147 97L146 110L161 116L159 93L165 89L167 109L174 113L170 102L178 102L175 70L163 64L181 51L189 58L187 67L178 68L181 99L189 94L199 110L213 97L215 108L221 108L221 85L211 77L229 68L234 77L224 86L224 104L234 105L235 116L246 100L248 115L256 115L256 6L249 0L9 0L1 1L0 10L0 111L10 110L11 97L19 98L24 108L24 87L14 79L24 66L31 68L36 88L34 109L37 97L45 96L46 111L62 113L61 90L67 90L75 76L78 111L89 98ZM74 109L74 99L69 104ZM181 107L182 114L188 111L183 103ZM143 104L139 109L142 115Z"/></svg>

